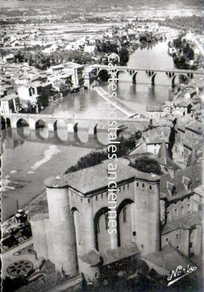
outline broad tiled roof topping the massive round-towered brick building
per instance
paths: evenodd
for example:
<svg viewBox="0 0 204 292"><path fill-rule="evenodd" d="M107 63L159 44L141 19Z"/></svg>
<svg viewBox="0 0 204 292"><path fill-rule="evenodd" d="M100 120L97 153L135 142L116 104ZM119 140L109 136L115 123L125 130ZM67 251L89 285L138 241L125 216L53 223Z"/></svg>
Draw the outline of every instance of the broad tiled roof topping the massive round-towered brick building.
<svg viewBox="0 0 204 292"><path fill-rule="evenodd" d="M99 163L95 166L73 172L64 176L64 179L67 181L67 184L80 191L83 194L93 192L95 190L108 187L108 161L107 163ZM114 163L114 161L113 161ZM147 174L139 172L132 167L126 165L122 159L118 159L117 164L117 178L115 179L116 183L119 183L124 180L128 180L134 177L149 180L149 181L158 181L159 176L155 174Z"/></svg>

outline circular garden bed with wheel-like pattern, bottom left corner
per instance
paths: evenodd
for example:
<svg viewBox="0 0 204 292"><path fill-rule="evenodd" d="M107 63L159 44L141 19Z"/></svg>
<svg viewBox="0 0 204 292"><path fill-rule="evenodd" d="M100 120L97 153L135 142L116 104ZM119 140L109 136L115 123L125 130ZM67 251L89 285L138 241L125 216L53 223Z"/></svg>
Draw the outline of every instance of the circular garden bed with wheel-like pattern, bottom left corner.
<svg viewBox="0 0 204 292"><path fill-rule="evenodd" d="M7 268L7 272L12 276L24 276L25 274L31 272L33 269L33 264L27 260L21 260L14 262Z"/></svg>

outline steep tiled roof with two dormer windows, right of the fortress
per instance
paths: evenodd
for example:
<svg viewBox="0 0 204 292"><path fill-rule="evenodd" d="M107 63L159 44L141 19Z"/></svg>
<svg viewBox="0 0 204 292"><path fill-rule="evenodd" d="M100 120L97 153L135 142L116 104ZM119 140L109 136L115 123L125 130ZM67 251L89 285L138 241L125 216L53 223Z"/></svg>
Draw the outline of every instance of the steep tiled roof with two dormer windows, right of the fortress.
<svg viewBox="0 0 204 292"><path fill-rule="evenodd" d="M188 191L186 191L185 186L183 184L183 177L190 179L193 191L193 189L199 186L201 183L201 171L202 166L200 164L196 164L193 166L189 166L185 169L175 171L173 178L169 173L161 176L160 196L163 198L166 197L169 201L185 196L186 194L188 194ZM175 185L176 188L175 195L170 196L167 190L167 182L170 182L173 185Z"/></svg>

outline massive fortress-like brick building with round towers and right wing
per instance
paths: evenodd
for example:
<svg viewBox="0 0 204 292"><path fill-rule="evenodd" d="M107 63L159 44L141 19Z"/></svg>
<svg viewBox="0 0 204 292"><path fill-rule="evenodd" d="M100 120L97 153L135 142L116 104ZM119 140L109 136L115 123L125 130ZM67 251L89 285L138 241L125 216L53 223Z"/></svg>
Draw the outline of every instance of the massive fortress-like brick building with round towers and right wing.
<svg viewBox="0 0 204 292"><path fill-rule="evenodd" d="M174 178L160 177L139 172L119 158L113 190L117 196L110 201L109 163L45 180L48 214L30 219L38 258L49 259L59 272L81 273L94 283L101 267L117 261L120 253L127 259L146 256L170 241L186 256L192 246L193 253L200 254L200 220L191 205L193 189L200 185L199 167L178 170ZM110 206L117 232L109 229ZM196 218L189 222L192 215Z"/></svg>

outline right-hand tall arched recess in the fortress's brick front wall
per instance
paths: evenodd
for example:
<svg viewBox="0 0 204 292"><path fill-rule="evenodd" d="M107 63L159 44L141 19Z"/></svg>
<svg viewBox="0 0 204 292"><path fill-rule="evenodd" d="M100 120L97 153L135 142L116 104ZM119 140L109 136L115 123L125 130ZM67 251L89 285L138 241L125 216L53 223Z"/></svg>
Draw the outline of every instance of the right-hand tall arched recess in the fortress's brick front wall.
<svg viewBox="0 0 204 292"><path fill-rule="evenodd" d="M133 200L127 198L124 199L117 208L118 246L125 245L127 243L127 238L132 238L132 203L134 203Z"/></svg>

